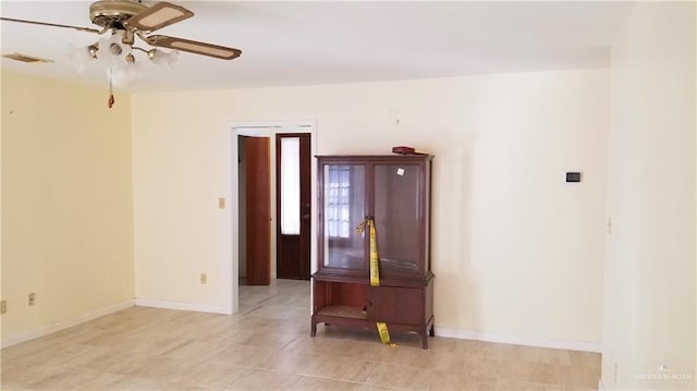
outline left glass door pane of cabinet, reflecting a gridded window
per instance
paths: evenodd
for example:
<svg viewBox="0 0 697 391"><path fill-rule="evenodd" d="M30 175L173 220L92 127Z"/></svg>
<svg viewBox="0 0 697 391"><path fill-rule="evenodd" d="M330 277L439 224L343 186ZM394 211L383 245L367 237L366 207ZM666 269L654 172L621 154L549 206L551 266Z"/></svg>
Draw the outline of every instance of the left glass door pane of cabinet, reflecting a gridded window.
<svg viewBox="0 0 697 391"><path fill-rule="evenodd" d="M365 218L364 166L325 166L325 266L365 270L365 236L355 228Z"/></svg>

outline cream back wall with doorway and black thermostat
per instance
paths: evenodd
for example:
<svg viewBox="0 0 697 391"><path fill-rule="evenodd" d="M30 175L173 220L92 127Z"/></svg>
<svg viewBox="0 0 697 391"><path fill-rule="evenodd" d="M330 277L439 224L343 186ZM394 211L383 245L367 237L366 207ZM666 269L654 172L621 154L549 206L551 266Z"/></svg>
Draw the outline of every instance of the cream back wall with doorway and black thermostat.
<svg viewBox="0 0 697 391"><path fill-rule="evenodd" d="M230 123L316 119L318 154L412 145L436 155L441 334L599 349L608 76L134 95L136 297L229 309L237 224L217 199L233 199ZM584 182L565 183L568 170L583 171Z"/></svg>

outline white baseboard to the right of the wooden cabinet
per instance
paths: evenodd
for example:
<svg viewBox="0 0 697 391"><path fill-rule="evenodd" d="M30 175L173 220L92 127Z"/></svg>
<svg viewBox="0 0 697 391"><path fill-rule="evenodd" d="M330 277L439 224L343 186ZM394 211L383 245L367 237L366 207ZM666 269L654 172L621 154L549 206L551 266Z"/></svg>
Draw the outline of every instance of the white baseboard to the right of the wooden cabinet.
<svg viewBox="0 0 697 391"><path fill-rule="evenodd" d="M510 343L514 345L563 349L563 350L570 350L570 351L582 351L582 352L594 352L594 353L600 353L602 351L602 343L600 342L552 340L552 339L536 338L536 337L500 334L494 332L448 329L442 327L436 327L435 329L436 329L435 330L436 335L438 337L456 338L461 340L477 340L477 341L487 341L487 342Z"/></svg>

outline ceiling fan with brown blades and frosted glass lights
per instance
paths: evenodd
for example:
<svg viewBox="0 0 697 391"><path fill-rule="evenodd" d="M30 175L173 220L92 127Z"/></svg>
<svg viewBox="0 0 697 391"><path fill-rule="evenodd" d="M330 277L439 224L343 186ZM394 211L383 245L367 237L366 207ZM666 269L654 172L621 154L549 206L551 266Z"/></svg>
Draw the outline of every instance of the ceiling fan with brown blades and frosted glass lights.
<svg viewBox="0 0 697 391"><path fill-rule="evenodd" d="M119 68L108 68L111 88L111 82L114 76L119 78L119 75L129 76L130 74L130 78L134 78L135 68L129 68L129 65L134 65L135 63L133 50L147 53L148 59L156 63L171 63L175 60L176 52L180 50L222 60L234 60L242 54L242 50L235 48L167 35L149 35L162 27L179 23L192 16L194 16L192 11L166 1L157 2L148 7L143 4L140 0L100 0L89 5L89 20L95 25L101 27L100 29L1 16L0 21L72 28L97 35L110 33L106 36L107 38L99 39L97 42L82 48L81 56L85 56L87 59L107 57L112 61L119 60L122 62ZM136 36L145 44L155 48L143 49L135 46ZM168 48L173 51L167 53L157 48ZM135 77L137 77L137 74ZM111 107L111 105L113 105L113 95L110 96L109 102L109 107Z"/></svg>

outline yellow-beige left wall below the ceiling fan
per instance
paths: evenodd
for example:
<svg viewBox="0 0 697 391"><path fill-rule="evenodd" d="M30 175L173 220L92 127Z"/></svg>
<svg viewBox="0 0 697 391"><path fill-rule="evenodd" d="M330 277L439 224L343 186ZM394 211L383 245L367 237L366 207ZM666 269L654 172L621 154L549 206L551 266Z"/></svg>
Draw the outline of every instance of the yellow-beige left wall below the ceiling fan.
<svg viewBox="0 0 697 391"><path fill-rule="evenodd" d="M2 72L3 343L133 300L131 99L106 101Z"/></svg>

